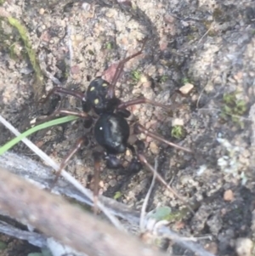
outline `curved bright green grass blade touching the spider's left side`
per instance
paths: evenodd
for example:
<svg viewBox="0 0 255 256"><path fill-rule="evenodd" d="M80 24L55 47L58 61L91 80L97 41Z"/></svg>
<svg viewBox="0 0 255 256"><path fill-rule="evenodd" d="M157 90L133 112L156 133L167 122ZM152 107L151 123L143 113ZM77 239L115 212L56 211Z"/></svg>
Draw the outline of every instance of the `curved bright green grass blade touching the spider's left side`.
<svg viewBox="0 0 255 256"><path fill-rule="evenodd" d="M57 118L57 119L54 119L54 120L49 121L49 122L44 122L44 123L39 124L39 125L37 125L33 128L30 128L29 130L27 130L23 134L20 134L16 138L8 141L8 143L6 143L2 147L0 147L0 156L3 155L4 152L8 151L11 147L13 147L17 143L19 143L21 139L24 139L27 136L29 136L33 133L36 133L37 131L40 131L44 128L48 128L48 127L51 127L51 126L54 126L54 125L58 125L60 123L71 122L73 120L76 120L77 118L79 118L79 117L74 117L74 116L61 117L61 118Z"/></svg>

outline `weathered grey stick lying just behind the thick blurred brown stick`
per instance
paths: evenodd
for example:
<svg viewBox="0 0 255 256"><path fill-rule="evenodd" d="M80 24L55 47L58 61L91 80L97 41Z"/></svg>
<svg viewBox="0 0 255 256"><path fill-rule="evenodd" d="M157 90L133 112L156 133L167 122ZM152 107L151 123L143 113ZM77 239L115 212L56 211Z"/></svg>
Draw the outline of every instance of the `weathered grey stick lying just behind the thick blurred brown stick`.
<svg viewBox="0 0 255 256"><path fill-rule="evenodd" d="M4 153L3 156L0 156L0 168L1 167L6 168L12 174L17 174L27 179L29 182L42 189L49 189L55 177L50 167L35 162L27 156L19 156L9 151ZM92 196L91 191L86 188L84 188L84 190L87 190L87 194L91 194ZM75 199L82 204L93 206L93 202L89 200L87 196L84 196L82 192L78 191L73 185L70 185L65 179L59 179L59 182L54 186L53 192L57 195ZM114 199L105 196L99 196L99 198L100 202L104 203L111 214L126 219L131 225L139 224L139 212L128 208L121 202L116 202Z"/></svg>

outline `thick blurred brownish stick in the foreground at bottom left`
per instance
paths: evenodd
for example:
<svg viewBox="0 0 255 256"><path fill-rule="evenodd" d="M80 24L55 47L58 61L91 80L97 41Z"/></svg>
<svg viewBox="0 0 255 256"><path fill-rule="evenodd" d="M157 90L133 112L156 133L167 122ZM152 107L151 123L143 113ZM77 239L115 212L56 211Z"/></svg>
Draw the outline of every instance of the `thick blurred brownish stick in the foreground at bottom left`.
<svg viewBox="0 0 255 256"><path fill-rule="evenodd" d="M71 206L59 196L39 190L3 168L0 168L0 208L46 236L88 255L167 255L145 247L133 236Z"/></svg>

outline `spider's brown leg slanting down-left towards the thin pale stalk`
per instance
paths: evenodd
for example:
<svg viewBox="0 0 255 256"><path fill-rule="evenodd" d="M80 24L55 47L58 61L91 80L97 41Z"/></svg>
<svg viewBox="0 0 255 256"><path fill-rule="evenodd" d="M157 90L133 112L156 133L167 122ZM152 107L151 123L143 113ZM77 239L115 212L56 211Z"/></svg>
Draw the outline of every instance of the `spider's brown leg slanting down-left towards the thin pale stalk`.
<svg viewBox="0 0 255 256"><path fill-rule="evenodd" d="M50 186L50 190L52 190L54 188L54 185L56 185L56 183L59 179L59 175L61 174L61 171L66 167L66 165L70 161L71 157L74 154L76 154L76 152L81 148L82 145L88 145L88 138L86 136L82 136L80 139L78 139L75 146L71 149L71 151L68 152L68 154L62 160L62 162L60 163L60 166L59 166L59 170L56 173L54 182Z"/></svg>

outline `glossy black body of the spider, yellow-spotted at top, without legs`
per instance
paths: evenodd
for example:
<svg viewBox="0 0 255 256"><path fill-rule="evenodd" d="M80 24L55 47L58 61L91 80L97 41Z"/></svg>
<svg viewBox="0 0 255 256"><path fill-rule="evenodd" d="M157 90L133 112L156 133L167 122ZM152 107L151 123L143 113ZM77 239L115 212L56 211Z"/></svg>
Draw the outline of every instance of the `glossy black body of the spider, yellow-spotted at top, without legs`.
<svg viewBox="0 0 255 256"><path fill-rule="evenodd" d="M116 110L121 100L108 98L111 85L101 77L96 77L90 82L83 108L93 108L99 115L94 125L94 137L106 152L105 160L108 168L122 168L122 162L116 157L126 151L129 137L129 125L125 118L129 117L127 110ZM134 169L138 167L134 166ZM140 167L139 167L140 169Z"/></svg>

